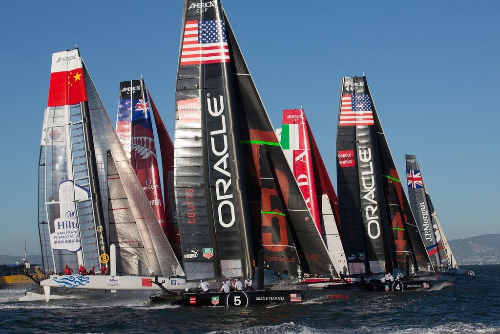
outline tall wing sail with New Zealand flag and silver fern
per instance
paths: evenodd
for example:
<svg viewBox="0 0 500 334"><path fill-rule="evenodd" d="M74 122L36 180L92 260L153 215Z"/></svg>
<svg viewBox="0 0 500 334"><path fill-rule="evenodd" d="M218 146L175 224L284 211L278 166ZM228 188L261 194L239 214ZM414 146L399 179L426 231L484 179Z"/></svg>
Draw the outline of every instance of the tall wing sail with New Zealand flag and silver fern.
<svg viewBox="0 0 500 334"><path fill-rule="evenodd" d="M130 131L126 131L128 128ZM120 83L116 132L122 146L130 148L130 163L168 238L149 101L142 79Z"/></svg>

